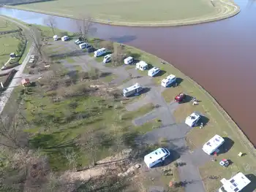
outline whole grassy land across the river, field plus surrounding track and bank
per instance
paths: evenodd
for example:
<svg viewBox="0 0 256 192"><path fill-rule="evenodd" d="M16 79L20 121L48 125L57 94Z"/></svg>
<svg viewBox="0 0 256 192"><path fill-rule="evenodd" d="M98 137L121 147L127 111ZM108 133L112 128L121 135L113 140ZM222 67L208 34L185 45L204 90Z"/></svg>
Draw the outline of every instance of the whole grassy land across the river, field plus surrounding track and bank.
<svg viewBox="0 0 256 192"><path fill-rule="evenodd" d="M229 0L75 0L72 4L61 0L22 4L12 8L68 18L80 18L86 12L95 22L121 26L182 26L230 18L240 11Z"/></svg>

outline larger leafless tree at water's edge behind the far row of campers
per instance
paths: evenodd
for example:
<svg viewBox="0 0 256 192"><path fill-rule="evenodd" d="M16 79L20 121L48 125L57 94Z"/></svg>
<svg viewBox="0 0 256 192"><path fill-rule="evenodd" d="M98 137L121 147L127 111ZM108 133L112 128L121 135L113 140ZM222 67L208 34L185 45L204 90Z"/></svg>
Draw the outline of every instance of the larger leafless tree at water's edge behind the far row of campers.
<svg viewBox="0 0 256 192"><path fill-rule="evenodd" d="M83 41L87 42L92 26L94 25L91 16L80 15L80 19L76 21L76 25L78 28L78 35Z"/></svg>

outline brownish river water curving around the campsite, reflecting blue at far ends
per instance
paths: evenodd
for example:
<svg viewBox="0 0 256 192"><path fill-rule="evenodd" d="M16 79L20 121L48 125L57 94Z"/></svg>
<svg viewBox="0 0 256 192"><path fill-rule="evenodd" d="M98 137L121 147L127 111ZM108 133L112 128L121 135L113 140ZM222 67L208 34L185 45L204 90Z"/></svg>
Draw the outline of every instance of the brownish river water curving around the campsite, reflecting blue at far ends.
<svg viewBox="0 0 256 192"><path fill-rule="evenodd" d="M179 27L124 27L96 24L95 37L138 47L170 62L222 105L256 145L256 4L236 0L241 12L213 23ZM1 15L42 25L47 15L0 8ZM58 28L75 21L56 17Z"/></svg>

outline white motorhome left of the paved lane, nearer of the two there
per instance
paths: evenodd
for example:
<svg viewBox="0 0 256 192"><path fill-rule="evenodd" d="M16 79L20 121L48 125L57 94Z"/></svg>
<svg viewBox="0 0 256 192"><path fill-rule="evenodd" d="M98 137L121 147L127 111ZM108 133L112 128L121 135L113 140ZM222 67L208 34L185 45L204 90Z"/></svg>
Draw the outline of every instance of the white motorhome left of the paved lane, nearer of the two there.
<svg viewBox="0 0 256 192"><path fill-rule="evenodd" d="M151 168L152 166L155 166L156 164L165 161L165 158L167 158L169 155L169 150L160 147L157 150L149 153L148 155L145 155L144 162L148 166L148 168Z"/></svg>

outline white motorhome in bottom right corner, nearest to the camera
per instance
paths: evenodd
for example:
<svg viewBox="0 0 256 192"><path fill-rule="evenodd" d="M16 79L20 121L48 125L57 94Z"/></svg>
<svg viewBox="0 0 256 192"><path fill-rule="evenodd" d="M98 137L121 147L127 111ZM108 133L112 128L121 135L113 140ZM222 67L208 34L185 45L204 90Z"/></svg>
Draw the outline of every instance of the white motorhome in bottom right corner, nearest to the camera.
<svg viewBox="0 0 256 192"><path fill-rule="evenodd" d="M238 172L238 174L233 176L230 180L223 178L220 182L223 185L219 188L219 192L239 192L245 188L246 185L251 183L251 181L241 172Z"/></svg>

